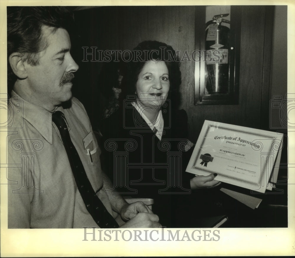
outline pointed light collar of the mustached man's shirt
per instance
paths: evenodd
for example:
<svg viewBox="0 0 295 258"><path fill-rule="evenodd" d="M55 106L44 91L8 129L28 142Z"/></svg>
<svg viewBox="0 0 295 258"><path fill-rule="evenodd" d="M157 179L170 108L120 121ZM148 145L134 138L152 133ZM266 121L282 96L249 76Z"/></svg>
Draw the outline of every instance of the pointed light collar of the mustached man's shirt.
<svg viewBox="0 0 295 258"><path fill-rule="evenodd" d="M21 100L23 102L24 115L23 118L27 120L44 139L52 144L52 113L48 110L31 104L30 102L22 99L15 91L12 91L12 104L16 106L14 99ZM63 108L59 106L56 110L63 111Z"/></svg>

